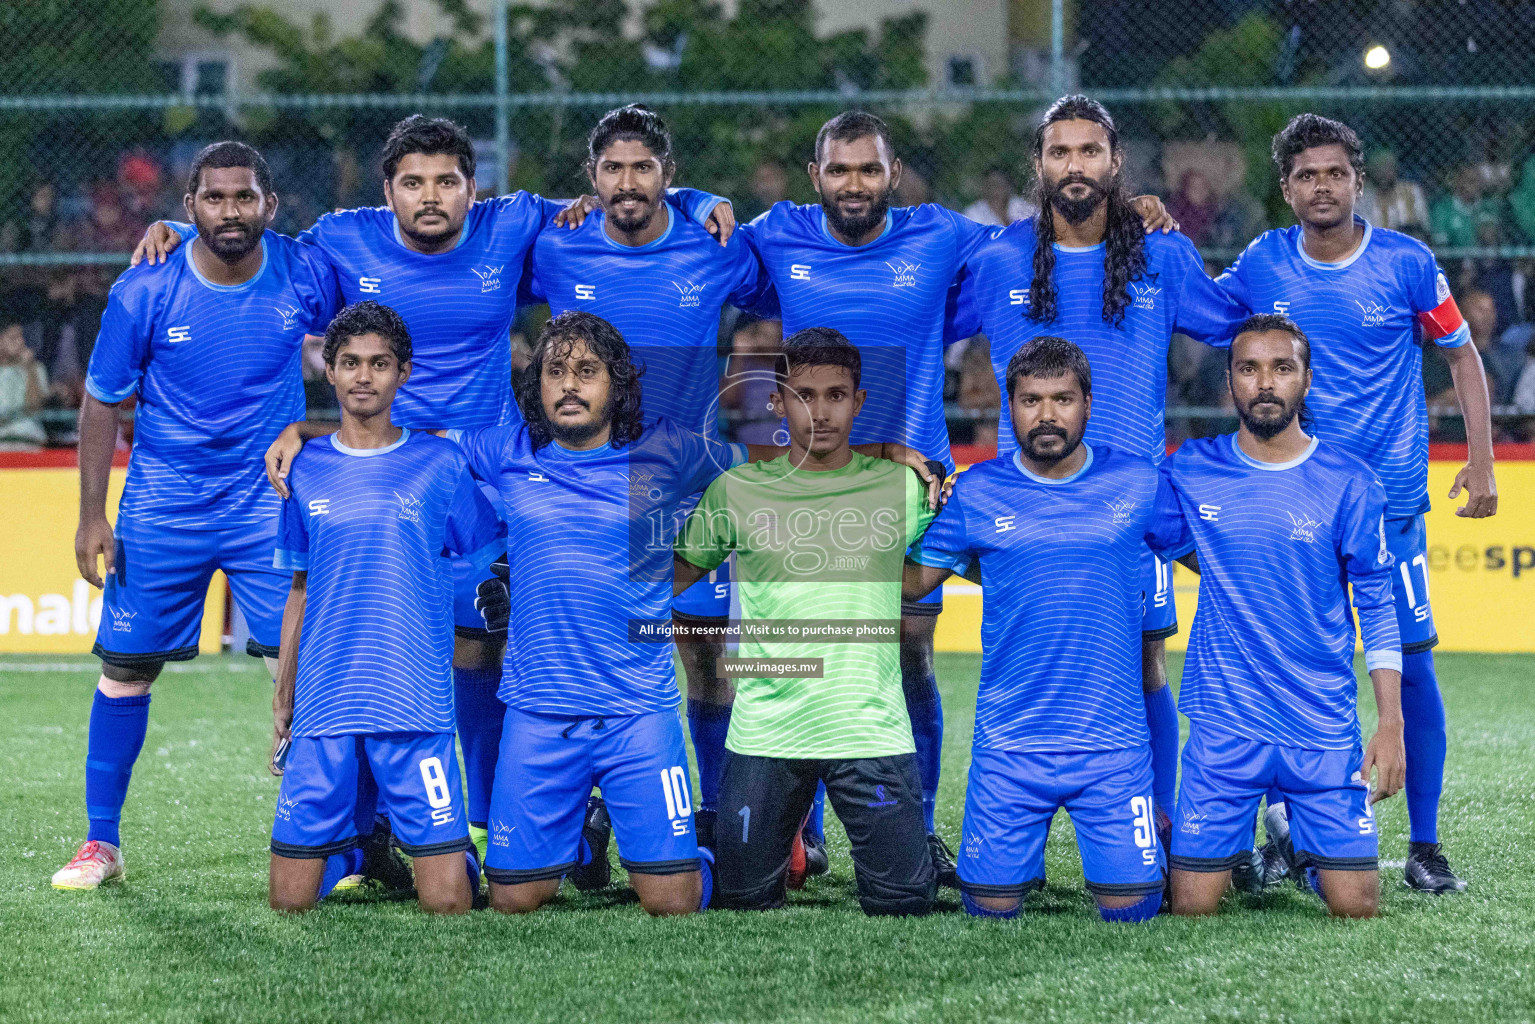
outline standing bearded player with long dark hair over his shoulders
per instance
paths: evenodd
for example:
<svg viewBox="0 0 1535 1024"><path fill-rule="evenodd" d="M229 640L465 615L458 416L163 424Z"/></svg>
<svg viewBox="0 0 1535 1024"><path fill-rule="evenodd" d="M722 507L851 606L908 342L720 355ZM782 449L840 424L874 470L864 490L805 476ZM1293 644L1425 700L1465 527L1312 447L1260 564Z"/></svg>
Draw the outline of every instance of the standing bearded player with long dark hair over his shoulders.
<svg viewBox="0 0 1535 1024"><path fill-rule="evenodd" d="M1096 100L1056 100L1035 129L1039 213L996 230L970 258L955 289L950 336L984 330L992 367L1030 341L1076 341L1098 378L1087 438L1160 464L1167 451L1167 350L1174 333L1223 342L1242 309L1210 279L1194 244L1142 227L1124 186L1114 120ZM999 456L1012 450L1002 407ZM1141 668L1151 729L1159 829L1177 785L1177 709L1167 685L1167 637L1177 633L1173 567L1141 557Z"/></svg>

